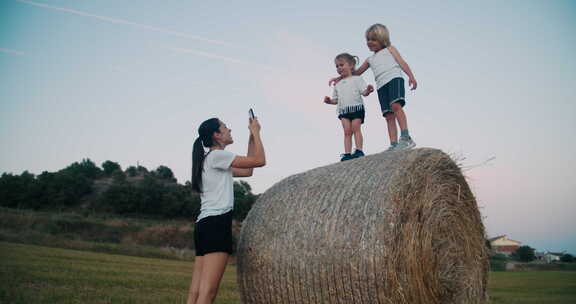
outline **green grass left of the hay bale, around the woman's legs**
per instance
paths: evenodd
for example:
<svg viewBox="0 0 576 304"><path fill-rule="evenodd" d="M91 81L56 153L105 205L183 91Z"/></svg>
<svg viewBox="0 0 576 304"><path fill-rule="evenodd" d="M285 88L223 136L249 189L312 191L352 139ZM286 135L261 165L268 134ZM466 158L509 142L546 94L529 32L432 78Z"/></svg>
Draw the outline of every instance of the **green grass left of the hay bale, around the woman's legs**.
<svg viewBox="0 0 576 304"><path fill-rule="evenodd" d="M0 242L0 303L185 303L192 262ZM239 303L229 265L216 303Z"/></svg>

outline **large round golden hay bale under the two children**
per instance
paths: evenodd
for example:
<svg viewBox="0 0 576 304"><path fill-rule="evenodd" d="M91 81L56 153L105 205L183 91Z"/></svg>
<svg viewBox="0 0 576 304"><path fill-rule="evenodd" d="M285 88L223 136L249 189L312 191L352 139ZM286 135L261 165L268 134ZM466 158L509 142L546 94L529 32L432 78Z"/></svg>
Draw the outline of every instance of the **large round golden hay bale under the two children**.
<svg viewBox="0 0 576 304"><path fill-rule="evenodd" d="M485 303L488 252L460 168L428 148L290 176L246 217L242 302Z"/></svg>

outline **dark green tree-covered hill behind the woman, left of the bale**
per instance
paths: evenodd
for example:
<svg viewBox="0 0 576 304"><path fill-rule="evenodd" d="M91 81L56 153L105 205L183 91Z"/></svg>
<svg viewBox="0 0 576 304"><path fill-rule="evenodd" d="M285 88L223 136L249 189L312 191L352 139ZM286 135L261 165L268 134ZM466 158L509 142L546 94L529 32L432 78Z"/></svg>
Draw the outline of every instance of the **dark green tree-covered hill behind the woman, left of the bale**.
<svg viewBox="0 0 576 304"><path fill-rule="evenodd" d="M234 182L234 217L243 220L256 198L247 182ZM151 171L143 166L122 170L110 160L98 167L90 159L83 159L57 172L3 173L0 206L194 219L200 213L200 196L192 191L190 182L178 184L166 166Z"/></svg>

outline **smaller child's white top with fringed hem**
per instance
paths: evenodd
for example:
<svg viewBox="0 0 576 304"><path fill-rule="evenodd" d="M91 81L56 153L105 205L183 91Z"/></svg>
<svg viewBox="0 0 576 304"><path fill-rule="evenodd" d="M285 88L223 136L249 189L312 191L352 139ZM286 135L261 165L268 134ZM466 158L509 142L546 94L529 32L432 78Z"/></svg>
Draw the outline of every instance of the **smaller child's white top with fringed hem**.
<svg viewBox="0 0 576 304"><path fill-rule="evenodd" d="M362 76L346 77L334 86L333 99L338 102L338 114L346 114L364 109L362 92L366 90L366 82Z"/></svg>

